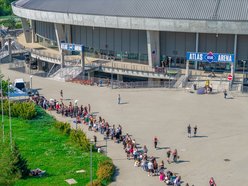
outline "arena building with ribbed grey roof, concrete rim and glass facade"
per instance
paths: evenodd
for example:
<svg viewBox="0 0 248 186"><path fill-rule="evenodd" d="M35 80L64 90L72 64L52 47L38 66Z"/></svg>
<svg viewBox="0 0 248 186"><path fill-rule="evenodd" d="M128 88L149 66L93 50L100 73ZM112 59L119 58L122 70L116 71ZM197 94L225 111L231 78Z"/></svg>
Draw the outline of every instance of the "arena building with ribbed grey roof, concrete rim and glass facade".
<svg viewBox="0 0 248 186"><path fill-rule="evenodd" d="M186 52L234 54L236 72L248 60L248 1L19 0L26 42L60 48L82 44L92 55L151 67L185 68ZM29 24L30 23L30 24ZM190 62L191 69L229 71L229 63Z"/></svg>

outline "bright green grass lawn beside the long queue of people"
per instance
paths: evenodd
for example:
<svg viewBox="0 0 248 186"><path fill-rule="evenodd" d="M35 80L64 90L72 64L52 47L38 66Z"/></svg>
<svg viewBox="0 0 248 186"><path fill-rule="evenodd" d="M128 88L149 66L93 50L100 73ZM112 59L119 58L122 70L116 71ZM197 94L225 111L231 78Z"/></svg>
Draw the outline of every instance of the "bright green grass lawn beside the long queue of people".
<svg viewBox="0 0 248 186"><path fill-rule="evenodd" d="M40 168L47 173L44 177L20 179L15 185L61 186L68 185L64 180L69 178L74 178L78 185L86 185L90 181L90 152L80 151L68 136L53 126L53 122L54 119L41 109L35 120L12 118L13 139L22 156L28 160L29 168ZM5 123L7 135L9 126L6 118ZM104 159L107 157L93 153L93 179L96 178L98 162ZM86 172L76 173L81 169Z"/></svg>

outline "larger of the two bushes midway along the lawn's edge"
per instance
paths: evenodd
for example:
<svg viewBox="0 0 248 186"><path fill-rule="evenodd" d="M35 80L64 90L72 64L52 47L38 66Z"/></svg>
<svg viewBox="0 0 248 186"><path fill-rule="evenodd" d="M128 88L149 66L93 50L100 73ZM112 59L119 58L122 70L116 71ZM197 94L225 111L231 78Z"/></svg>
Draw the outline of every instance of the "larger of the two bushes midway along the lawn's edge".
<svg viewBox="0 0 248 186"><path fill-rule="evenodd" d="M77 143L81 150L89 151L90 150L90 142L86 136L86 134L81 130L72 129L70 132L70 137L72 141Z"/></svg>

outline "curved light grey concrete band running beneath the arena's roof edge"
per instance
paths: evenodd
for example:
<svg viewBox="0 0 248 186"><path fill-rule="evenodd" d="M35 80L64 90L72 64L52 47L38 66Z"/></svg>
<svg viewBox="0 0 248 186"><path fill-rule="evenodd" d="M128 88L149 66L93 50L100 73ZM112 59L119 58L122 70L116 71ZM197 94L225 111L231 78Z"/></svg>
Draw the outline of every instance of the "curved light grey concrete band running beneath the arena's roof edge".
<svg viewBox="0 0 248 186"><path fill-rule="evenodd" d="M243 21L153 19L60 13L25 9L15 6L15 3L12 4L12 10L19 17L70 25L170 32L248 34L248 22Z"/></svg>

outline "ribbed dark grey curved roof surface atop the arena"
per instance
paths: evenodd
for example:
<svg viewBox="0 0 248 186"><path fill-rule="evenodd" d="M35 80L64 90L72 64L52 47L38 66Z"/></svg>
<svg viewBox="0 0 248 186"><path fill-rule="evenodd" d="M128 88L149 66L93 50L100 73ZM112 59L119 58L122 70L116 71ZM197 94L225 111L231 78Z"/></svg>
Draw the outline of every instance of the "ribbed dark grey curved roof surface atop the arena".
<svg viewBox="0 0 248 186"><path fill-rule="evenodd" d="M248 0L19 0L15 6L120 17L248 21Z"/></svg>

